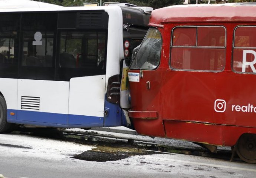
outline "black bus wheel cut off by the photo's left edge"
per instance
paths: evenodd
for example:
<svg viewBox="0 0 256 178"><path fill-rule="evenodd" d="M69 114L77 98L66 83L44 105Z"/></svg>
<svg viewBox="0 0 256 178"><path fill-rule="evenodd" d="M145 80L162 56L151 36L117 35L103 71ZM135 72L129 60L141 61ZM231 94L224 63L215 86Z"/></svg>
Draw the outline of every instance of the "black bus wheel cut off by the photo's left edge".
<svg viewBox="0 0 256 178"><path fill-rule="evenodd" d="M0 133L10 131L13 127L11 123L7 123L6 121L6 102L4 97L0 95Z"/></svg>

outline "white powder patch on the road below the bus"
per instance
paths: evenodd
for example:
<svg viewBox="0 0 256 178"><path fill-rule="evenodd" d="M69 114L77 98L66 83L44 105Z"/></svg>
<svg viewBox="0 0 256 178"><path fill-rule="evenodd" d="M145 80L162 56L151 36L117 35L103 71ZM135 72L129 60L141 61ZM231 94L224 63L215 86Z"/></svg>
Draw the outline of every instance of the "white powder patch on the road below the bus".
<svg viewBox="0 0 256 178"><path fill-rule="evenodd" d="M58 141L50 138L40 138L30 135L0 134L1 152L12 152L28 157L65 159L75 154L91 150L92 146L73 142ZM10 144L11 146L4 146ZM28 148L16 148L23 146Z"/></svg>

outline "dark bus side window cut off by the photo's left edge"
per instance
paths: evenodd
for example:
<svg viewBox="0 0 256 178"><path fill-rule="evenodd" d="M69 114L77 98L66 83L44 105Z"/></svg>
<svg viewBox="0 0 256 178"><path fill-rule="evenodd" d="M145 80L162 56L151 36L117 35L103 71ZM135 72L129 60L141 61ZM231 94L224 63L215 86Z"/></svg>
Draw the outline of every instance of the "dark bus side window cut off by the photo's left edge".
<svg viewBox="0 0 256 178"><path fill-rule="evenodd" d="M0 14L0 78L17 78L19 14Z"/></svg>

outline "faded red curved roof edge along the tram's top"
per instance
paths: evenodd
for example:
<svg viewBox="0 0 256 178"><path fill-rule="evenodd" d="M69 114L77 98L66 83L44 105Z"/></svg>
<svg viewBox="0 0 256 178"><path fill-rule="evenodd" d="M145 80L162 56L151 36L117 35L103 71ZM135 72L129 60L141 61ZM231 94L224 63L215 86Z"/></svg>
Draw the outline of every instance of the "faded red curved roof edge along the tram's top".
<svg viewBox="0 0 256 178"><path fill-rule="evenodd" d="M153 10L149 25L223 21L256 22L255 11L256 3L175 5Z"/></svg>

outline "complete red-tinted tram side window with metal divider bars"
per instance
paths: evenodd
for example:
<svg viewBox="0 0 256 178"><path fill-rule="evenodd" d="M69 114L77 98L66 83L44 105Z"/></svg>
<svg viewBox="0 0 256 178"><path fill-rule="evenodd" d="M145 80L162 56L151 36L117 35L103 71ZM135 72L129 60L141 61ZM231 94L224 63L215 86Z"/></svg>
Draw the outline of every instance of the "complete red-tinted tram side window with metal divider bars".
<svg viewBox="0 0 256 178"><path fill-rule="evenodd" d="M175 27L171 67L178 70L221 71L225 66L226 30L220 26Z"/></svg>

